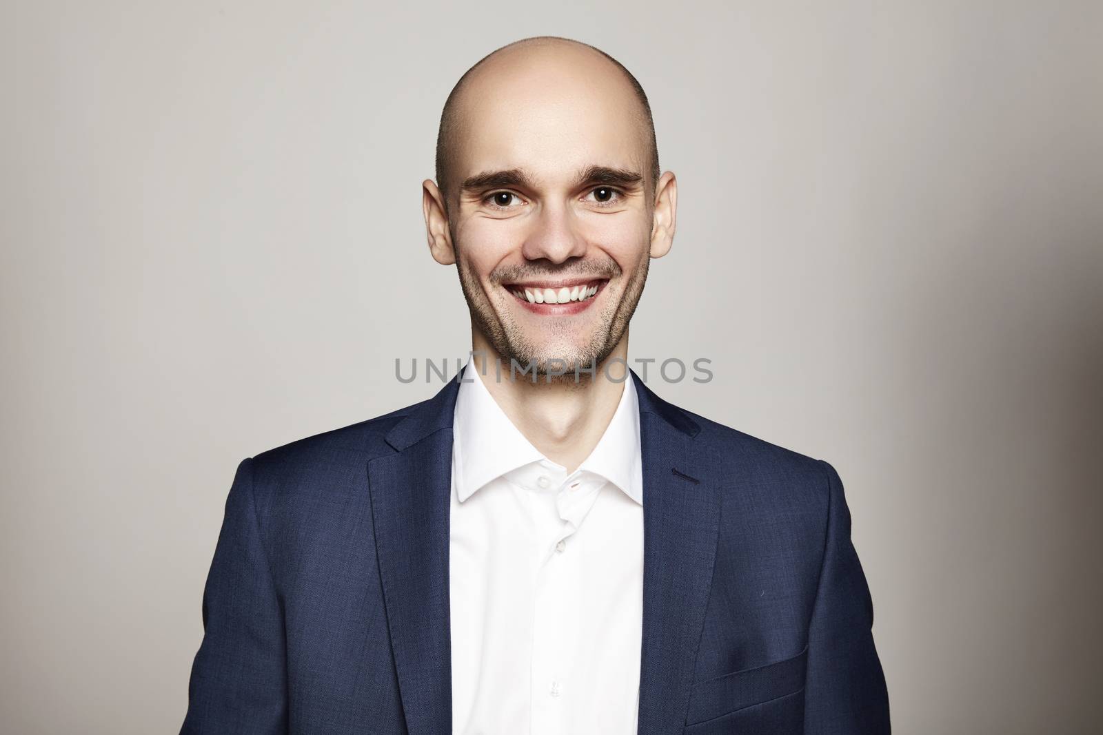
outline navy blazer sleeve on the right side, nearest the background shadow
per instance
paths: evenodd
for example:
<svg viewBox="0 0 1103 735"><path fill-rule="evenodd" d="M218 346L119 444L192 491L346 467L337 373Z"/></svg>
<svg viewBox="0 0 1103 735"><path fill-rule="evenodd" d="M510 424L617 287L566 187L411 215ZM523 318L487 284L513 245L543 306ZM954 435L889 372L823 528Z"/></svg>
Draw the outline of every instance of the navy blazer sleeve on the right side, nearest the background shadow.
<svg viewBox="0 0 1103 735"><path fill-rule="evenodd" d="M874 603L850 541L850 510L838 473L826 471L827 539L808 629L804 732L890 733L885 673L874 646Z"/></svg>

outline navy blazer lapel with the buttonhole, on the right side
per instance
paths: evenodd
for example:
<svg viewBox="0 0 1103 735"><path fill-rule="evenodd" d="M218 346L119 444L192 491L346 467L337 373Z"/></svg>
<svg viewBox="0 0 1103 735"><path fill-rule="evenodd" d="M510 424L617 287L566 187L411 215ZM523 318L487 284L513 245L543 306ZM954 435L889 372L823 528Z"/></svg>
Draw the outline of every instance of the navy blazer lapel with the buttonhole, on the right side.
<svg viewBox="0 0 1103 735"><path fill-rule="evenodd" d="M632 371L643 462L643 640L640 735L685 727L697 646L713 580L720 496L681 409Z"/></svg>

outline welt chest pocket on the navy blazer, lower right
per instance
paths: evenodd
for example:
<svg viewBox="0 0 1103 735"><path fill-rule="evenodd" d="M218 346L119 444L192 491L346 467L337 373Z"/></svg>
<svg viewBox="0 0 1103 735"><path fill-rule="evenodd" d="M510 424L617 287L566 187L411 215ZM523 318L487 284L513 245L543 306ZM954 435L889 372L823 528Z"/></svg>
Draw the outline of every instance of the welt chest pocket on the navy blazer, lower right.
<svg viewBox="0 0 1103 735"><path fill-rule="evenodd" d="M686 725L801 691L804 689L807 661L808 647L805 646L791 658L693 684L689 688L689 716Z"/></svg>

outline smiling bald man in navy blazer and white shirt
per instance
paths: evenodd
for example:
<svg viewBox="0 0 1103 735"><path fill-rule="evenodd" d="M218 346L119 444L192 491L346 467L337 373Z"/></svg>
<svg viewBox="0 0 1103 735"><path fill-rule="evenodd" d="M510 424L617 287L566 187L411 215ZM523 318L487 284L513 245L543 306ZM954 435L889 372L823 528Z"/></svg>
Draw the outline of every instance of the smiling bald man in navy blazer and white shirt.
<svg viewBox="0 0 1103 735"><path fill-rule="evenodd" d="M460 79L422 204L475 359L242 462L183 732L889 732L835 469L624 369L674 238L654 141L578 42Z"/></svg>

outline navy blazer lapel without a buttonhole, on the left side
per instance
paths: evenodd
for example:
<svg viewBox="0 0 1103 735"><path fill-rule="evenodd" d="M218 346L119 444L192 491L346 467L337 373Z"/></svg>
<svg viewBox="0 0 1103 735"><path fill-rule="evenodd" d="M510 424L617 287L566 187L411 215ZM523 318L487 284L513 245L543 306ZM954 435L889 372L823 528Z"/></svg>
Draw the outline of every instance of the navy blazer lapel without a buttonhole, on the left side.
<svg viewBox="0 0 1103 735"><path fill-rule="evenodd" d="M376 556L406 727L452 729L449 512L459 383L414 407L387 434L395 454L367 463Z"/></svg>

